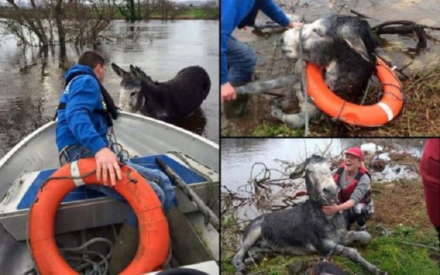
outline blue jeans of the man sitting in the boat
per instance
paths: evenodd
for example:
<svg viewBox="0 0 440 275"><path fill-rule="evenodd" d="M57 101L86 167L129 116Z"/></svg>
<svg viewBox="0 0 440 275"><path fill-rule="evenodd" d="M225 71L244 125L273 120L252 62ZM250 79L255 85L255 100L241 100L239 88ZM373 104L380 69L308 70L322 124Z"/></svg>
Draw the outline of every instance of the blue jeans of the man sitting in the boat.
<svg viewBox="0 0 440 275"><path fill-rule="evenodd" d="M62 151L62 153L60 154L60 163L61 165L64 165L66 163L75 162L78 159L94 156L94 153L88 148L85 148L80 144L74 144L67 146L67 148ZM153 188L165 211L168 211L171 208L177 206L176 194L173 190L170 179L168 179L168 177L164 173L162 173L162 171L144 168L138 164L132 164L131 162L129 162L128 159L124 159L122 162L136 170L137 173L142 175L142 177L148 179L148 184L150 184L151 188ZM157 181L158 184L156 184L155 181ZM107 186L89 185L87 186L87 188L98 190L105 195L112 197L113 199L126 202L122 195ZM133 228L137 228L137 218L135 213L133 212L133 209L131 208L129 210L129 214L126 217L126 222L129 223L129 225L133 226Z"/></svg>

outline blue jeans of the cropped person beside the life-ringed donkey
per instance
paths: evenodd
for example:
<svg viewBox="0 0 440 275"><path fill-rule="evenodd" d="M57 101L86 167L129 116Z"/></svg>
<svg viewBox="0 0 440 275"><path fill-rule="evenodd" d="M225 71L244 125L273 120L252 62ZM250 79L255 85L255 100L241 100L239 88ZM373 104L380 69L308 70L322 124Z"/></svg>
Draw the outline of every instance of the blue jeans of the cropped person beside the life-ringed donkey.
<svg viewBox="0 0 440 275"><path fill-rule="evenodd" d="M256 55L245 43L230 37L226 45L228 80L230 83L248 83L252 80L256 67Z"/></svg>

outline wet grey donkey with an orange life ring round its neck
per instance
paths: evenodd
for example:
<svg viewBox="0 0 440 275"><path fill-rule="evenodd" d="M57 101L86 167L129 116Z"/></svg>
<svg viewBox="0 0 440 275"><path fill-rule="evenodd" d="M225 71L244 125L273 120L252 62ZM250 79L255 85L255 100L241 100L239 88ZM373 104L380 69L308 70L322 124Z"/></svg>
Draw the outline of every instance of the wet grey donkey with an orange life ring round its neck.
<svg viewBox="0 0 440 275"><path fill-rule="evenodd" d="M287 30L280 39L281 51L288 58L299 58L299 32L299 28ZM331 91L355 102L376 72L376 46L369 23L358 17L331 15L303 25L301 37L303 59L324 67L325 83ZM296 72L300 72L299 63ZM299 85L295 89L300 113L283 113L278 101L272 104L271 113L285 124L299 128L305 124L305 104ZM309 119L320 114L314 104L308 104L308 111Z"/></svg>

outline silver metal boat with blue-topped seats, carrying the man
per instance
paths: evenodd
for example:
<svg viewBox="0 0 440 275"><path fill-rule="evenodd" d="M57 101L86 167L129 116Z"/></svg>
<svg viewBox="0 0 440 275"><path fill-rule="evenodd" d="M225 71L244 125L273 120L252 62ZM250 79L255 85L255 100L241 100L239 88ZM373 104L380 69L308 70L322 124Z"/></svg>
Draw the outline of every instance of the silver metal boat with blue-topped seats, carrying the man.
<svg viewBox="0 0 440 275"><path fill-rule="evenodd" d="M41 126L0 159L1 274L25 274L34 267L27 244L28 213L39 184L60 166L55 129L56 122ZM117 142L129 152L132 162L154 168L155 157L160 157L219 217L218 144L134 113L121 112L113 129ZM182 214L179 221L168 221L172 241L170 266L220 274L219 232L206 223L195 203L174 188ZM94 190L74 190L58 208L56 242L63 247L79 246L89 236L106 236L114 241L127 209L126 203ZM179 226L172 229L173 223Z"/></svg>

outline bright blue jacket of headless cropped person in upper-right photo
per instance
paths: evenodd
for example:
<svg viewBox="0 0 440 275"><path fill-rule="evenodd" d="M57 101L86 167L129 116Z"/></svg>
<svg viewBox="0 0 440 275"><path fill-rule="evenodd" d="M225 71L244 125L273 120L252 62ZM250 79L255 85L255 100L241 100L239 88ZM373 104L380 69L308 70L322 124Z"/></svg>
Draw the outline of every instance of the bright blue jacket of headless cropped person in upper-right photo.
<svg viewBox="0 0 440 275"><path fill-rule="evenodd" d="M259 1L259 9L270 19L283 27L289 25L289 19L274 0L223 0L221 1L221 85L228 82L228 65L226 63L227 43L234 29L254 8Z"/></svg>

